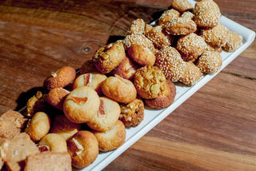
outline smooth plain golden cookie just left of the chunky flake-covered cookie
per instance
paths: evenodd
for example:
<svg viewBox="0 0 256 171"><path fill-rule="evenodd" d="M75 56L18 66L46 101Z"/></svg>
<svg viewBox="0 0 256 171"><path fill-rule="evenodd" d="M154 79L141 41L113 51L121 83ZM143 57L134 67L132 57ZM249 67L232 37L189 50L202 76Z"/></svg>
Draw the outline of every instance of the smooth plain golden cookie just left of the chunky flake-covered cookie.
<svg viewBox="0 0 256 171"><path fill-rule="evenodd" d="M130 103L134 101L137 96L133 82L121 78L118 75L106 78L106 80L102 82L102 92L106 97L110 97L114 101L121 103Z"/></svg>

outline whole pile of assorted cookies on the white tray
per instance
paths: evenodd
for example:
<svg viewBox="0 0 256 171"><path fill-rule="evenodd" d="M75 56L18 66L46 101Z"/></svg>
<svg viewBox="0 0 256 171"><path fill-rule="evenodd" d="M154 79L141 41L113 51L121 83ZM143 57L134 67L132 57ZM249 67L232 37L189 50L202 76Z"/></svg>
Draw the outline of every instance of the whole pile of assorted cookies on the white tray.
<svg viewBox="0 0 256 171"><path fill-rule="evenodd" d="M99 48L77 73L70 66L46 78L46 92L27 101L26 117L0 116L0 167L71 170L117 149L126 128L139 125L144 105L164 109L176 95L174 82L194 85L218 72L222 50L242 37L219 23L212 0L193 6L174 0L155 26L132 22L126 38Z"/></svg>

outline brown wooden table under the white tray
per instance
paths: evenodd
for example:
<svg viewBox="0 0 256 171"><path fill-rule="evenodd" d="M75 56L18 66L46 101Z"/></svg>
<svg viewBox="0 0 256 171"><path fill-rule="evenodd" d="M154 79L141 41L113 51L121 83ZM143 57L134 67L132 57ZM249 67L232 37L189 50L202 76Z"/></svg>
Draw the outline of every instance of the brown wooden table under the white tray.
<svg viewBox="0 0 256 171"><path fill-rule="evenodd" d="M136 18L172 1L0 1L0 113L21 109L51 71L78 69ZM254 0L216 0L256 30ZM105 170L256 170L256 43Z"/></svg>

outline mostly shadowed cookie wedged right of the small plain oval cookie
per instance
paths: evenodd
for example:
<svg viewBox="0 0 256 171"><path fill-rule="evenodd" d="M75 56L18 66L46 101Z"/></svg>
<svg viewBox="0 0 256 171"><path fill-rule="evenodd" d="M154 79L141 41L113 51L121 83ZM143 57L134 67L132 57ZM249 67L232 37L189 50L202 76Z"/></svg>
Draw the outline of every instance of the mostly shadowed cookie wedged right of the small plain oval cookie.
<svg viewBox="0 0 256 171"><path fill-rule="evenodd" d="M50 133L56 133L68 141L79 130L81 130L81 125L72 123L65 115L57 115L54 117Z"/></svg>

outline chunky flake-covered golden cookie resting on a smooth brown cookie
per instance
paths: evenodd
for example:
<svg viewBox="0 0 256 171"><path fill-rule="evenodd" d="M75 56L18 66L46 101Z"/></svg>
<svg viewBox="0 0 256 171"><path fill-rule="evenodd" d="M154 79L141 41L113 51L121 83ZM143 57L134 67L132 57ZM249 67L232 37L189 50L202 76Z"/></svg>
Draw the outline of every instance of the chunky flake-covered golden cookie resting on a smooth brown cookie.
<svg viewBox="0 0 256 171"><path fill-rule="evenodd" d="M158 97L165 89L166 77L156 66L144 66L134 76L134 86L142 98Z"/></svg>

